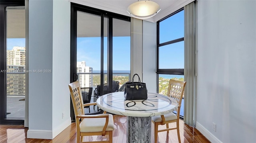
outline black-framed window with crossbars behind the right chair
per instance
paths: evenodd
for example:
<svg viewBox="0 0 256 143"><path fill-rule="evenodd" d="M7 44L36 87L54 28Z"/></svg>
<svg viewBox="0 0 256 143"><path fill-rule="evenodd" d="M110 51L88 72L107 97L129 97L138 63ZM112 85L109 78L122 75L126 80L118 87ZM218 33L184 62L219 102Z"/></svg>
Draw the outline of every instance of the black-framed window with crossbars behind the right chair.
<svg viewBox="0 0 256 143"><path fill-rule="evenodd" d="M170 79L184 81L184 10L157 22L158 93L167 94ZM184 105L180 108L184 116Z"/></svg>

